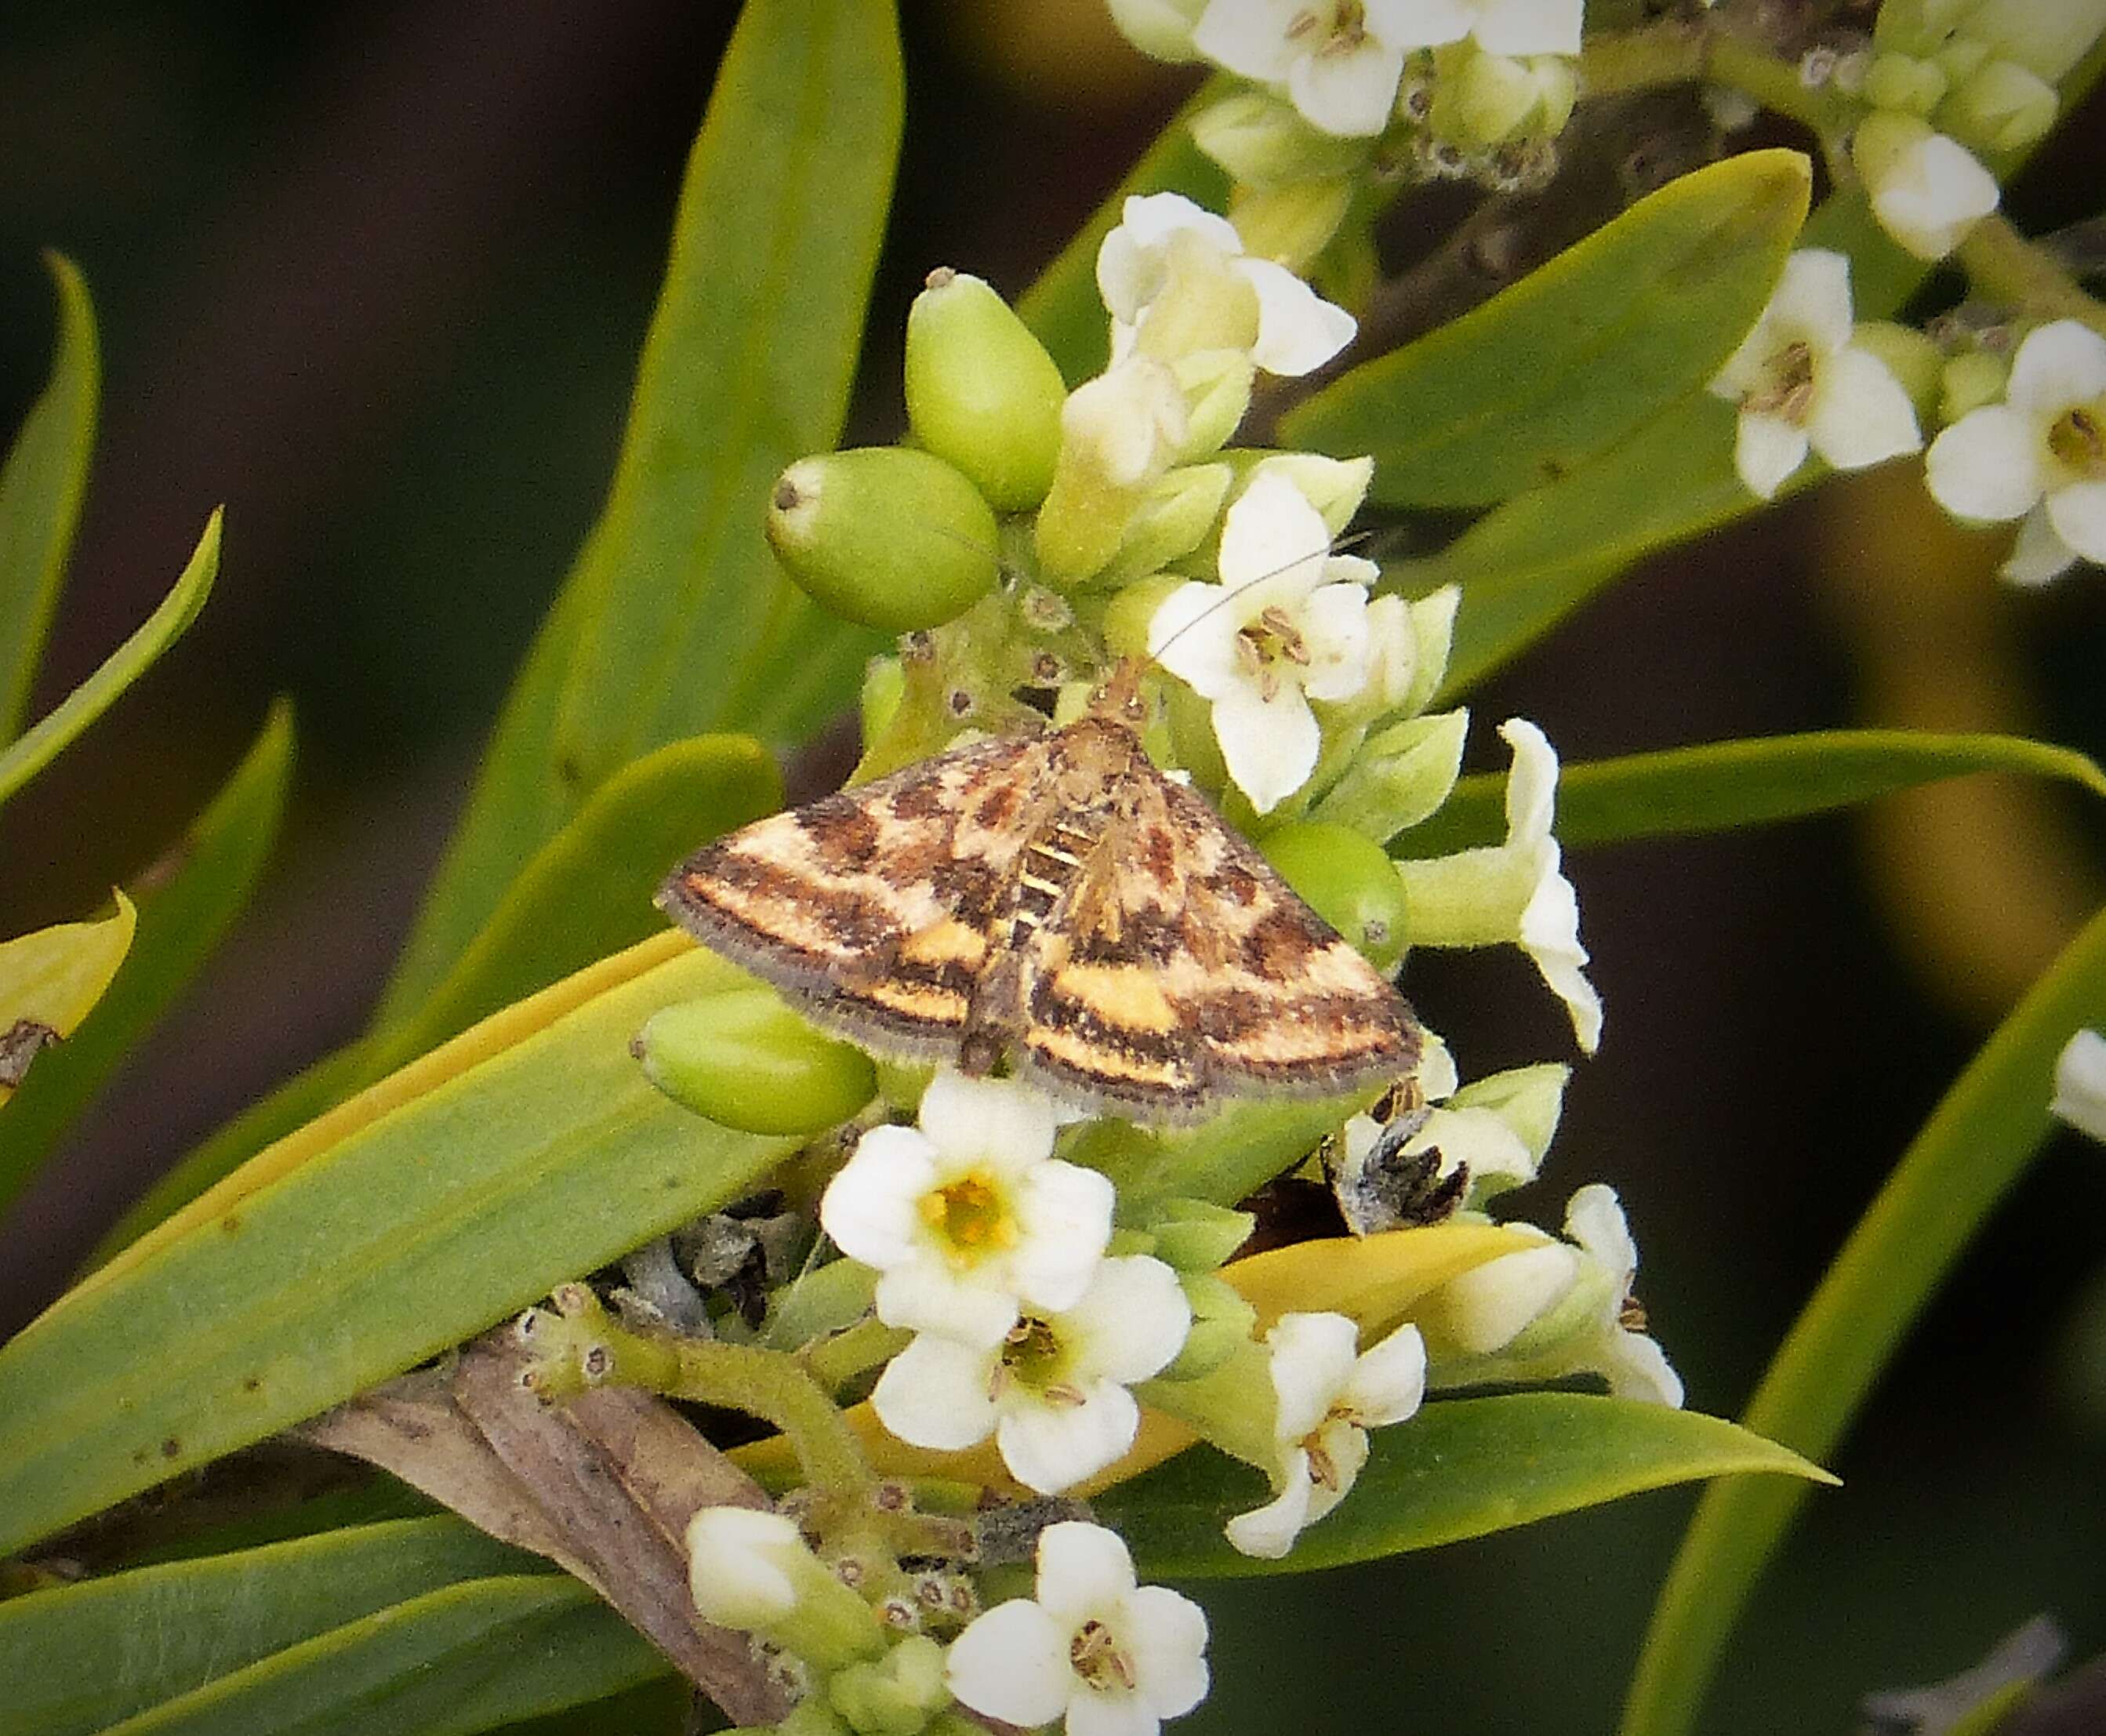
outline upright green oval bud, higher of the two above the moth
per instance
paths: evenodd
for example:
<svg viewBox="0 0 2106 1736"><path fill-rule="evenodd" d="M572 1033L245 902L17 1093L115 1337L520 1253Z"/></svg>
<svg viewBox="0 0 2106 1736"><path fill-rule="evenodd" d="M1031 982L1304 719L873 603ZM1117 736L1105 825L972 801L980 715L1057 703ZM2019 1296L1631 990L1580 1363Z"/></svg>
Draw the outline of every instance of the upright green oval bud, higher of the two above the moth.
<svg viewBox="0 0 2106 1736"><path fill-rule="evenodd" d="M914 438L973 478L996 512L1047 497L1068 381L990 284L948 268L929 274L908 310L906 388Z"/></svg>

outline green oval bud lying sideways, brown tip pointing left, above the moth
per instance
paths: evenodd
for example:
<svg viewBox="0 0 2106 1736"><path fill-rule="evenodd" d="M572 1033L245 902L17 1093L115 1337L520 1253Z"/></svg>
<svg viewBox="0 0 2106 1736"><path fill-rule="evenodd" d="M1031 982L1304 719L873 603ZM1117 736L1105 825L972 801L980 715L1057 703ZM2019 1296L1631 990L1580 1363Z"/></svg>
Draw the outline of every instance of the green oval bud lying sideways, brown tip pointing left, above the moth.
<svg viewBox="0 0 2106 1736"><path fill-rule="evenodd" d="M979 489L908 447L798 459L775 478L767 531L815 603L885 632L962 615L994 590L1000 565Z"/></svg>

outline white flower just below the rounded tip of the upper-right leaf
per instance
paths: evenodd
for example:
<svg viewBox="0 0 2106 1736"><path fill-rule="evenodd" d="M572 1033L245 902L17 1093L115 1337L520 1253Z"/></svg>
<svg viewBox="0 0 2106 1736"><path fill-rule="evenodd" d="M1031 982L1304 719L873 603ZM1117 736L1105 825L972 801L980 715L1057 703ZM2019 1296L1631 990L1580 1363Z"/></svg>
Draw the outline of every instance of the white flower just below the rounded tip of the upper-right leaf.
<svg viewBox="0 0 2106 1736"><path fill-rule="evenodd" d="M1801 249L1710 383L1740 405L1733 466L1754 495L1775 495L1809 447L1836 470L1862 470L1923 445L1902 381L1849 339L1849 257Z"/></svg>

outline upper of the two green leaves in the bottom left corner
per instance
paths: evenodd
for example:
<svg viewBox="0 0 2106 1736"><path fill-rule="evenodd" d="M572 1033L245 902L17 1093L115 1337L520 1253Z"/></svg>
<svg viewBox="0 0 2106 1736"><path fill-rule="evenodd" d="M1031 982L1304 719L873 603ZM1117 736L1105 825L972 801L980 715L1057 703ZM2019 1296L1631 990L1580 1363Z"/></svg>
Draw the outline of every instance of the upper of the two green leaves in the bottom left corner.
<svg viewBox="0 0 2106 1736"><path fill-rule="evenodd" d="M535 1565L444 1515L15 1597L0 1603L0 1656L36 1669L8 1673L0 1736L86 1736L392 1603Z"/></svg>

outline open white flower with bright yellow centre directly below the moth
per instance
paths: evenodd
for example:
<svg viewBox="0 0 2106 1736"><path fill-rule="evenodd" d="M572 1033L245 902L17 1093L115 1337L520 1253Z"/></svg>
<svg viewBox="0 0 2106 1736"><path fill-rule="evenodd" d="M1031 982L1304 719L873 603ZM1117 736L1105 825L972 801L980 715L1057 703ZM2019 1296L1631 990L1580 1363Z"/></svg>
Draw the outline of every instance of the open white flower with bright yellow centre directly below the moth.
<svg viewBox="0 0 2106 1736"><path fill-rule="evenodd" d="M819 1201L840 1251L876 1266L878 1319L998 1344L1019 1302L1074 1306L1112 1237L1112 1184L1051 1157L1036 1091L939 1072L920 1127L872 1127Z"/></svg>

